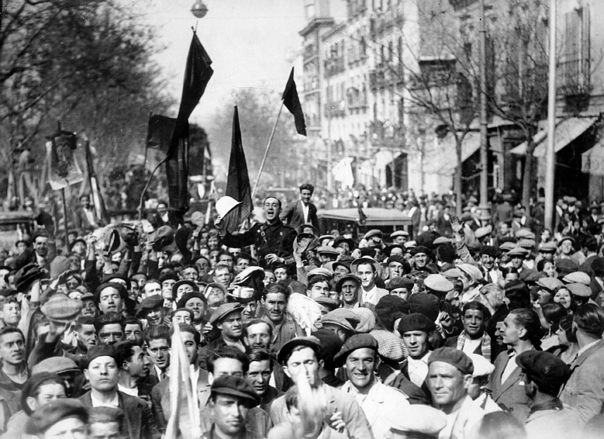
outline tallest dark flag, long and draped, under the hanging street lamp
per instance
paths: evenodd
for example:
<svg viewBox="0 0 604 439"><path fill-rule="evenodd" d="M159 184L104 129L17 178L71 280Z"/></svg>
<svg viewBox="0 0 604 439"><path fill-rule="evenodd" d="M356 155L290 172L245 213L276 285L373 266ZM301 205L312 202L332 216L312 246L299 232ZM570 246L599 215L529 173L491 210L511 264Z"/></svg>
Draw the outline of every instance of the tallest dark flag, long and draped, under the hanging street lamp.
<svg viewBox="0 0 604 439"><path fill-rule="evenodd" d="M189 46L185 80L182 84L181 106L165 162L170 207L184 213L189 208L188 192L188 118L204 94L205 87L214 73L212 60L193 32Z"/></svg>

